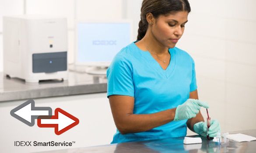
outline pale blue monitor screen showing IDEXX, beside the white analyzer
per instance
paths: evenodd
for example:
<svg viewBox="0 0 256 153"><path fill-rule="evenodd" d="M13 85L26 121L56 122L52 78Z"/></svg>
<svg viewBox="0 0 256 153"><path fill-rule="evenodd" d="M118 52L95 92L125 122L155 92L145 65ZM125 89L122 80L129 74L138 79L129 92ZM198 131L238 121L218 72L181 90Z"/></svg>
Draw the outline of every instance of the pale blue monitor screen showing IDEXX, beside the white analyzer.
<svg viewBox="0 0 256 153"><path fill-rule="evenodd" d="M131 43L130 22L78 22L76 63L111 63Z"/></svg>

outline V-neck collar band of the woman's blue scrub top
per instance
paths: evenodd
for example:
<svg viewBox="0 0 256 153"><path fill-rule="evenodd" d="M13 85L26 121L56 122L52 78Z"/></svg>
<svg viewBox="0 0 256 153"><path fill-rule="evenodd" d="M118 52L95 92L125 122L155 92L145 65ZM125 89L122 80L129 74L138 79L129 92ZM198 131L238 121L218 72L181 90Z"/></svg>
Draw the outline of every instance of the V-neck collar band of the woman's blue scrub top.
<svg viewBox="0 0 256 153"><path fill-rule="evenodd" d="M153 56L151 56L150 52L141 50L135 42L133 42L133 45L135 48L137 48L139 54L141 57L145 59L145 61L151 65L154 70L156 70L158 73L160 73L162 76L164 76L166 79L172 75L173 70L175 69L175 49L168 49L169 54L171 55L169 65L164 70L161 65L154 59Z"/></svg>

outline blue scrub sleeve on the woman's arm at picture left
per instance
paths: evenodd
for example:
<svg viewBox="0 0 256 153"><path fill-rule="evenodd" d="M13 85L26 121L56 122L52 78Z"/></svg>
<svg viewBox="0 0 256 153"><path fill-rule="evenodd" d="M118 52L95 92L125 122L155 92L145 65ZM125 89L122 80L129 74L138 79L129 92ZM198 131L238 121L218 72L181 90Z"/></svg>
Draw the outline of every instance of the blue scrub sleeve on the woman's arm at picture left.
<svg viewBox="0 0 256 153"><path fill-rule="evenodd" d="M114 94L134 97L132 72L130 61L117 55L107 70L107 97Z"/></svg>

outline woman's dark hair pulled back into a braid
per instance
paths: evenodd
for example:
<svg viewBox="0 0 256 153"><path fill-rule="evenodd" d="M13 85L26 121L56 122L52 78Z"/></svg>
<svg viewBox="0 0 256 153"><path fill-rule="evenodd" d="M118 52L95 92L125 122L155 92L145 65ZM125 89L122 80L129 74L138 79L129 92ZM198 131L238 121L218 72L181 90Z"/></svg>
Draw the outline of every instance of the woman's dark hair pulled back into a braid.
<svg viewBox="0 0 256 153"><path fill-rule="evenodd" d="M146 15L152 13L154 18L159 15L170 14L177 11L191 11L188 0L143 0L140 13L140 22L137 41L141 40L147 32Z"/></svg>

